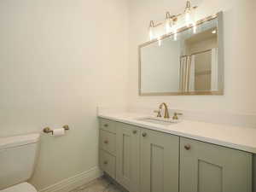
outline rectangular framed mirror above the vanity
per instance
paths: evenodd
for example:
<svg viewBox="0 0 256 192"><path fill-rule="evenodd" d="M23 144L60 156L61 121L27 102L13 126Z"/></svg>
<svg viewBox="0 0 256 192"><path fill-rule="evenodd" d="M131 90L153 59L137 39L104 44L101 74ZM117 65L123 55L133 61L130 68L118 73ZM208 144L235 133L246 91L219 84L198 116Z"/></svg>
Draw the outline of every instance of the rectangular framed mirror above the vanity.
<svg viewBox="0 0 256 192"><path fill-rule="evenodd" d="M222 13L139 46L140 96L223 95Z"/></svg>

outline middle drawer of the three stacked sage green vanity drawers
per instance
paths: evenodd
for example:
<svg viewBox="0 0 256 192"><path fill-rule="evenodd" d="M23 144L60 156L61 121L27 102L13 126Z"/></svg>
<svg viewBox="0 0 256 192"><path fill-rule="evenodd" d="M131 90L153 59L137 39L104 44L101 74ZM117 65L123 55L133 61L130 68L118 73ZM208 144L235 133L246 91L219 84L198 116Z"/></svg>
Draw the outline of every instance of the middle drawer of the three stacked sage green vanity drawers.
<svg viewBox="0 0 256 192"><path fill-rule="evenodd" d="M100 130L100 148L108 151L108 153L115 155L116 148L116 134Z"/></svg>

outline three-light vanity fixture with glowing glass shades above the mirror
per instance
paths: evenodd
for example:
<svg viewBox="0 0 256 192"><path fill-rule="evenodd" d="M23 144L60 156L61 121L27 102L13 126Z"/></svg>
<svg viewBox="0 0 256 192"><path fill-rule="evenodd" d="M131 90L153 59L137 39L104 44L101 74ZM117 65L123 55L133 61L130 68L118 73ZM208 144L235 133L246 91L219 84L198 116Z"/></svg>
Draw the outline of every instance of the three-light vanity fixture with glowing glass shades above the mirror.
<svg viewBox="0 0 256 192"><path fill-rule="evenodd" d="M197 7L192 7L190 0L187 0L185 10L182 14L178 15L171 15L170 12L166 12L166 21L165 21L165 28L166 28L166 34L172 32L174 35L174 40L177 39L177 20L179 19L180 16L184 17L185 21L185 26L193 27L193 32L196 32L196 22L195 22L195 17L194 17L194 9ZM152 41L154 38L157 38L160 40L160 37L156 37L154 34L154 28L157 26L162 25L162 23L154 24L153 20L150 20L149 23L149 39Z"/></svg>

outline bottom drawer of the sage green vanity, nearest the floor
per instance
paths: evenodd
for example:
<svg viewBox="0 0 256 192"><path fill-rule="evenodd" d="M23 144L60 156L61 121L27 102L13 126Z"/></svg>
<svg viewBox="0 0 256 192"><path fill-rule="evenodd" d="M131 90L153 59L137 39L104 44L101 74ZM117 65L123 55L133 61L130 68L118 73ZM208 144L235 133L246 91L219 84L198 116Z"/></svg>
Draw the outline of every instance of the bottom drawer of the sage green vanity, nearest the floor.
<svg viewBox="0 0 256 192"><path fill-rule="evenodd" d="M100 167L102 171L115 178L115 157L113 155L100 150Z"/></svg>

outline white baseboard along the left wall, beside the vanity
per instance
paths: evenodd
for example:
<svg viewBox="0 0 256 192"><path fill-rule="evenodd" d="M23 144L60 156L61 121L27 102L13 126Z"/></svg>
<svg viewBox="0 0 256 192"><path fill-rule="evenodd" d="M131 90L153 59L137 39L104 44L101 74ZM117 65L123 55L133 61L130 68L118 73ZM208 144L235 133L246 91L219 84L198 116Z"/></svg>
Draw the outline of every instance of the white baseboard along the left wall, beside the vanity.
<svg viewBox="0 0 256 192"><path fill-rule="evenodd" d="M78 175L66 178L61 182L39 190L39 192L68 192L101 176L101 170L98 167L93 167L87 172L81 172Z"/></svg>

